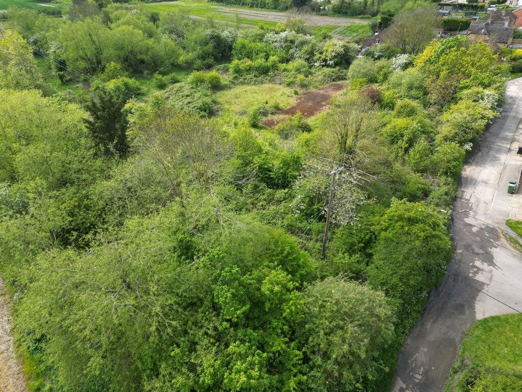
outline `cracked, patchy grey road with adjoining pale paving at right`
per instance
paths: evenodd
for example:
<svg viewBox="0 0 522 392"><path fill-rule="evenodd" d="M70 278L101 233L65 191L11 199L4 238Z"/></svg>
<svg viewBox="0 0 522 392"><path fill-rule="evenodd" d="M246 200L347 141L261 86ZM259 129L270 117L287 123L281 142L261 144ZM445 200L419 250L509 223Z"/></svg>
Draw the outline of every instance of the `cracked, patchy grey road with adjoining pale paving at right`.
<svg viewBox="0 0 522 392"><path fill-rule="evenodd" d="M462 169L454 256L402 348L393 392L441 391L467 328L485 317L522 312L522 255L504 238L505 232L516 236L505 221L522 219L522 189L507 193L522 165L516 154L522 145L522 78L508 82L505 100Z"/></svg>

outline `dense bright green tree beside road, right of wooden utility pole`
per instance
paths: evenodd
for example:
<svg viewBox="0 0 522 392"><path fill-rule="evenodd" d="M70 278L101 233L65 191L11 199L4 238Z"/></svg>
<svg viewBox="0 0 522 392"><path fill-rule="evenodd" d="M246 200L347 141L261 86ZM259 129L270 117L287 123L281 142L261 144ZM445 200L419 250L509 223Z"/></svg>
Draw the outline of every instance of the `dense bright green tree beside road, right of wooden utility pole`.
<svg viewBox="0 0 522 392"><path fill-rule="evenodd" d="M367 283L395 300L401 331L415 322L428 294L440 282L451 255L445 217L432 207L393 201L367 270Z"/></svg>

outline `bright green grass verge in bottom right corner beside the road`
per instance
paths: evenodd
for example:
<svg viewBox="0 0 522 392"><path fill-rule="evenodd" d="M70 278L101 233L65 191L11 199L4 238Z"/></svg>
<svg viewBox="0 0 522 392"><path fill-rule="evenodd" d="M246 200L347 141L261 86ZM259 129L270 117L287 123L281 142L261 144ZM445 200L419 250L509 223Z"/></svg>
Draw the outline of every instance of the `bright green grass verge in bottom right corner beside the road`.
<svg viewBox="0 0 522 392"><path fill-rule="evenodd" d="M493 316L473 325L444 392L522 390L522 315Z"/></svg>

